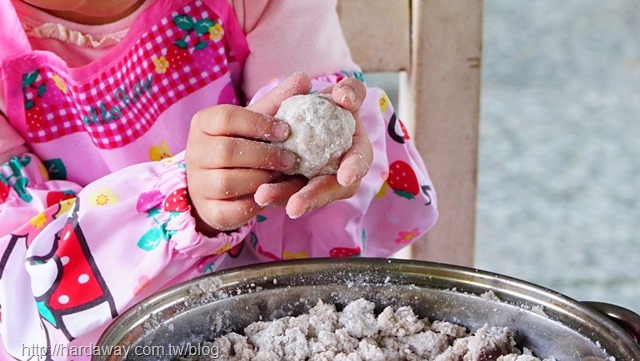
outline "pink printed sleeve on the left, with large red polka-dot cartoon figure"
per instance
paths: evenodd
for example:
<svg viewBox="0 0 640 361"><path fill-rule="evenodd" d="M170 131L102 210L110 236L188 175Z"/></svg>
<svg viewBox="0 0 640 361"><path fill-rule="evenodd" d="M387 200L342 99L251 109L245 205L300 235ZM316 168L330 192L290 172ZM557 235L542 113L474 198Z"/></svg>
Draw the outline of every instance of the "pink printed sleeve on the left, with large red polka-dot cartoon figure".
<svg viewBox="0 0 640 361"><path fill-rule="evenodd" d="M49 180L33 154L0 165L6 351L17 356L20 345L43 340L95 342L123 310L198 275L201 261L242 242L254 224L208 238L195 230L190 210L184 152L84 188Z"/></svg>

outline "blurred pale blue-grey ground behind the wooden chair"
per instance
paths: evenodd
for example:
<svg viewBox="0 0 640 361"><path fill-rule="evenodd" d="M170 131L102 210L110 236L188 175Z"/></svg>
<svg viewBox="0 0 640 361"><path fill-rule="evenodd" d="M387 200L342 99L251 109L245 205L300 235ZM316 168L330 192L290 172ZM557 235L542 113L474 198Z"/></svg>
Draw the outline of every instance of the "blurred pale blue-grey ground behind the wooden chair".
<svg viewBox="0 0 640 361"><path fill-rule="evenodd" d="M640 312L640 1L484 0L483 37L475 266Z"/></svg>

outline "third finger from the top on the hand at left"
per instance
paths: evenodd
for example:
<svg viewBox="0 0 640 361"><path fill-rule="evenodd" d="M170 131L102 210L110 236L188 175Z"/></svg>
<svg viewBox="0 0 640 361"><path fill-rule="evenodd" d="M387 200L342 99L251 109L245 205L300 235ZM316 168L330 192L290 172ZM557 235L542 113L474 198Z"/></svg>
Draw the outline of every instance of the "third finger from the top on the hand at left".
<svg viewBox="0 0 640 361"><path fill-rule="evenodd" d="M260 169L212 169L199 172L190 185L197 187L204 199L232 199L253 194L261 184L281 177L279 172Z"/></svg>

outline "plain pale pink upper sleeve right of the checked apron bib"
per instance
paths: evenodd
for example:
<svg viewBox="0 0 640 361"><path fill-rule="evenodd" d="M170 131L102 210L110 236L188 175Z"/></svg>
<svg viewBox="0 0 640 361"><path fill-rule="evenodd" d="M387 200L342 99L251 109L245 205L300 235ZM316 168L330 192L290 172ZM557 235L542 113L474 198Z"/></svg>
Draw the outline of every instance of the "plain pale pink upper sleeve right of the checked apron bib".
<svg viewBox="0 0 640 361"><path fill-rule="evenodd" d="M233 0L250 54L242 89L251 99L274 78L359 71L351 60L336 0Z"/></svg>

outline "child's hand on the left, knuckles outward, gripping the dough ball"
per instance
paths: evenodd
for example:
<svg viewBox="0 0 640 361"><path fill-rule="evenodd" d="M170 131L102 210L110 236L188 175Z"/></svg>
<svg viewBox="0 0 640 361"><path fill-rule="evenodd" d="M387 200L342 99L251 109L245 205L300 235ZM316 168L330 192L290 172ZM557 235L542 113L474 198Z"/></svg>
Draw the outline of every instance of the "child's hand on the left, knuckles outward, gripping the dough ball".
<svg viewBox="0 0 640 361"><path fill-rule="evenodd" d="M308 94L292 76L246 108L218 105L203 109L191 121L185 153L187 187L196 229L213 237L237 229L263 207L254 193L294 169L296 156L268 142L284 141L289 126L273 115L285 99Z"/></svg>

